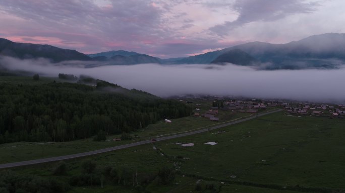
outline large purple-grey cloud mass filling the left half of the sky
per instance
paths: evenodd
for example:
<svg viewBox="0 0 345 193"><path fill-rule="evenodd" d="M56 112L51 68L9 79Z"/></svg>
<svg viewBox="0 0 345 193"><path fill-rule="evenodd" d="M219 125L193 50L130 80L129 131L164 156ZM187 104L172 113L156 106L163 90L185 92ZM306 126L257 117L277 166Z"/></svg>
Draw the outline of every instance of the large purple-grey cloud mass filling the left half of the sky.
<svg viewBox="0 0 345 193"><path fill-rule="evenodd" d="M162 10L151 1L123 0L97 6L93 1L19 1L0 2L0 11L27 20L37 30L17 30L17 36L57 37L61 43L80 42L92 46L147 46L169 33L161 21ZM9 21L11 22L11 21ZM108 48L107 48L108 49Z"/></svg>

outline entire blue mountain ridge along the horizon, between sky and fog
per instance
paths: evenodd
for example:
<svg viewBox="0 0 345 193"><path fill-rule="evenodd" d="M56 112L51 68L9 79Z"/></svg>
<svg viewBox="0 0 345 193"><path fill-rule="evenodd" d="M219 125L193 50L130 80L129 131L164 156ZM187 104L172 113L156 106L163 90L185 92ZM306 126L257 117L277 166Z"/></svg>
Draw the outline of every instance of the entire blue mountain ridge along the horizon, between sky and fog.
<svg viewBox="0 0 345 193"><path fill-rule="evenodd" d="M85 55L76 50L62 49L50 45L16 43L0 38L1 55L20 59L43 57L49 58L52 62L65 60L104 62L91 65L94 67L143 63L210 64L222 61L224 63L239 62L239 65L246 63L245 65L250 66L260 65L261 63L267 69L336 68L339 64L345 64L345 34L312 35L283 44L255 41L200 55L168 59L160 59L126 50L112 50ZM222 57L218 58L221 55ZM242 57L242 59L239 57ZM217 58L218 60L216 60ZM249 64L246 62L247 60L255 60L256 62L250 62Z"/></svg>

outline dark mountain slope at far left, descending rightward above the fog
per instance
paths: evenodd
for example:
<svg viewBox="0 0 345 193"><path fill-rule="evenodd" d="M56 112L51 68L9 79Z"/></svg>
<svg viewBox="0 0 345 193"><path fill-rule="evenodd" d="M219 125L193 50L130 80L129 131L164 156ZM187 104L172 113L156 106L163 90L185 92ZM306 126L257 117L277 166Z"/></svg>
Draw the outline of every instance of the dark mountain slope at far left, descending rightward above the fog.
<svg viewBox="0 0 345 193"><path fill-rule="evenodd" d="M50 45L16 43L0 38L0 56L11 56L20 59L48 58L52 62L65 60L91 60L87 55L76 50L62 49Z"/></svg>

